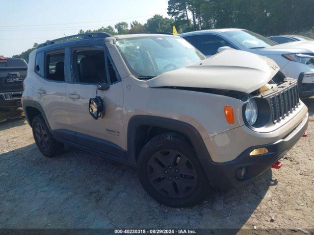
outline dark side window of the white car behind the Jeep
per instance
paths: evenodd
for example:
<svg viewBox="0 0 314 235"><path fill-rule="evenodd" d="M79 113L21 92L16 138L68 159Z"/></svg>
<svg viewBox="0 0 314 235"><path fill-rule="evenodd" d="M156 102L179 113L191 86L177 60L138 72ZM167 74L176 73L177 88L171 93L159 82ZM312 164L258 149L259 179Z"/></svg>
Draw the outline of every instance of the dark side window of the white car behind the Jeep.
<svg viewBox="0 0 314 235"><path fill-rule="evenodd" d="M195 39L195 47L198 48L205 55L216 54L219 47L228 46L235 48L229 42L216 35L197 35L195 36Z"/></svg>

